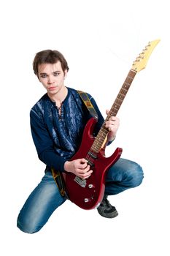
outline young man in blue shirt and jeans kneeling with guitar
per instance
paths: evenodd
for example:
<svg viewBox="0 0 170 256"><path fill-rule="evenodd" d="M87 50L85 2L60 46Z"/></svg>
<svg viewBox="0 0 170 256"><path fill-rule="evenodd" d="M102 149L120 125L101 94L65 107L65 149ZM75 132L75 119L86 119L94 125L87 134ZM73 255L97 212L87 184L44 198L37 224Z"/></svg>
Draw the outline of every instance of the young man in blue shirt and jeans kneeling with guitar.
<svg viewBox="0 0 170 256"><path fill-rule="evenodd" d="M84 158L70 160L80 147L83 129L91 116L77 91L64 85L69 71L66 59L57 50L42 50L36 53L33 68L40 83L47 90L31 108L30 113L32 138L39 159L45 163L46 169L45 176L31 192L18 216L18 227L26 233L38 232L53 211L66 200L55 184L52 167L84 179L92 173ZM93 97L90 94L88 97L98 113L98 122L94 129L94 135L97 135L104 118ZM110 144L115 139L119 119L112 116L106 122L106 127L109 130L107 143ZM116 217L117 210L109 203L107 196L139 186L142 178L142 167L120 158L107 172L104 198L97 208L98 214L107 218Z"/></svg>

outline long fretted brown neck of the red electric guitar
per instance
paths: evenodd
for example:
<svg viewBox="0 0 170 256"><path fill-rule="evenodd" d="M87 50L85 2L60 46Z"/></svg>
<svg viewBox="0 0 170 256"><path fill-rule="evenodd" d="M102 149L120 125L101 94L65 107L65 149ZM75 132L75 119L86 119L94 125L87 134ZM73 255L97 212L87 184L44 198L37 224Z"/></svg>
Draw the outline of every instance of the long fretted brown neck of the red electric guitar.
<svg viewBox="0 0 170 256"><path fill-rule="evenodd" d="M93 145L91 146L91 151L95 152L96 154L101 150L101 147L104 144L104 141L107 138L108 129L105 127L105 122L109 120L111 116L116 116L118 110L120 109L120 106L123 103L123 99L125 99L125 95L128 92L128 89L131 86L132 81L134 80L134 77L136 75L136 71L133 69L130 69L128 72L127 78L125 78L125 82L123 83L123 86L121 87L119 93L117 94L117 97L115 99L115 102L112 105L112 108L109 110L109 114L107 115L107 118L104 121L104 124L101 126L101 129L98 132L98 135L96 136L96 139L93 142Z"/></svg>

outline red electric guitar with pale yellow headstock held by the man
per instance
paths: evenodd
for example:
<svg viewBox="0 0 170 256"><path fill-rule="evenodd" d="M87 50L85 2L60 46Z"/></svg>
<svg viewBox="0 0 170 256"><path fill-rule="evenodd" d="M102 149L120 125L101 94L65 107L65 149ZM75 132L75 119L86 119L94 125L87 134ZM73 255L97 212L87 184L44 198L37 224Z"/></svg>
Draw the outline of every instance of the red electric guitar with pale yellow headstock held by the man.
<svg viewBox="0 0 170 256"><path fill-rule="evenodd" d="M154 40L144 48L139 57L136 58L132 65L128 76L123 83L122 88L117 94L117 98L109 111L109 115L105 119L107 121L110 116L116 116L123 99L131 86L136 72L146 67L147 61L152 53L152 50L160 40ZM117 148L111 157L104 155L104 143L107 140L108 129L105 127L105 121L98 132L96 138L93 137L93 129L96 124L96 118L90 118L85 126L82 135L82 143L79 151L72 157L71 160L85 158L88 160L90 169L93 170L91 176L87 179L75 176L73 173L63 173L63 179L66 185L66 193L69 200L75 203L80 208L89 210L96 208L101 203L104 196L105 176L110 166L114 165L117 159L122 154L122 148Z"/></svg>

